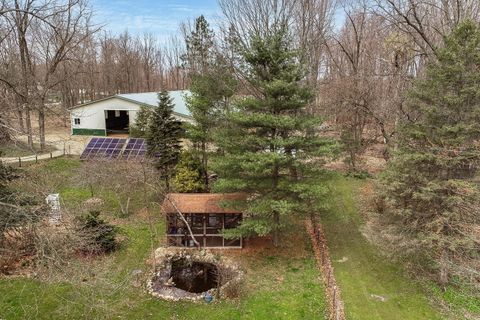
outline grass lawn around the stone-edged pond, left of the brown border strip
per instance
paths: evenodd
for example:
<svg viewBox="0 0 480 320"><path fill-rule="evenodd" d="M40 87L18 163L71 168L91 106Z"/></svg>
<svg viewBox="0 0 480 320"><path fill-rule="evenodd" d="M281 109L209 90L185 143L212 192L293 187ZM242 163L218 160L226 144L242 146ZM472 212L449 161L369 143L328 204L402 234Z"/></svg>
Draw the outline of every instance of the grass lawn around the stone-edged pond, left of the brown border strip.
<svg viewBox="0 0 480 320"><path fill-rule="evenodd" d="M38 177L46 179L45 188L60 190L61 196L66 193L63 200L68 203L88 198L79 178L73 176L82 165L75 159L59 158L26 170L40 172ZM135 192L132 194L135 197ZM107 220L122 230L125 240L121 249L94 260L72 258L56 272L58 277L0 278L0 319L325 318L324 291L301 221L292 223L280 248L267 244L225 253L245 270L245 288L239 300L173 303L151 297L144 289L151 271L146 261L151 249L162 242L163 219L156 212L153 219L147 219L138 201L132 201L134 213L119 218L108 192L99 197L105 197ZM136 269L144 271L142 287L132 284L131 274Z"/></svg>

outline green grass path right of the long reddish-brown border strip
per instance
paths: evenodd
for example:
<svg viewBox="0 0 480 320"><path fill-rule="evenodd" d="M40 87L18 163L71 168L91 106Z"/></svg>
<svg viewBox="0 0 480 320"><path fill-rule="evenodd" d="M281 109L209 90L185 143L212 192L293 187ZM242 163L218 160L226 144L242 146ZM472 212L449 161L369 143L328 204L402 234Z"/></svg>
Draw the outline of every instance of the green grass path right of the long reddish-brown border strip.
<svg viewBox="0 0 480 320"><path fill-rule="evenodd" d="M398 263L380 255L361 234L363 219L355 196L364 183L337 175L330 184L330 209L321 216L347 318L442 319L420 284L407 277Z"/></svg>

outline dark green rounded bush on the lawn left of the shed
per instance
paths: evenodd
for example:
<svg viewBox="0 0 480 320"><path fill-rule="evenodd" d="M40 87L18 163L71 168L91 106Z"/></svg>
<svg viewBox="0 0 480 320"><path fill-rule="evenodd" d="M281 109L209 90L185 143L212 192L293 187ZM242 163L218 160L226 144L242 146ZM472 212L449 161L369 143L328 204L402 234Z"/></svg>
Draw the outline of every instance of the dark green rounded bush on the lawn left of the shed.
<svg viewBox="0 0 480 320"><path fill-rule="evenodd" d="M79 220L79 233L84 253L109 253L117 248L118 229L99 218L99 211L91 211Z"/></svg>

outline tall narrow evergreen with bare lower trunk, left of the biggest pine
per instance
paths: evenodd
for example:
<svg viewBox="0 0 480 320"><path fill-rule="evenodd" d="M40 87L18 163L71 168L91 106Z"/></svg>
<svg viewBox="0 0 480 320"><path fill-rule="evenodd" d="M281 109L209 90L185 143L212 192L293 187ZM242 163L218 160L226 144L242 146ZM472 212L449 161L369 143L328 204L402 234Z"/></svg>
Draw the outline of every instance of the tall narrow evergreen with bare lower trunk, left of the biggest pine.
<svg viewBox="0 0 480 320"><path fill-rule="evenodd" d="M198 17L195 29L186 38L187 52L183 57L191 92L186 101L195 120L187 125L187 135L201 157L205 190L208 190L208 146L236 84L226 60L216 50L214 37L205 17Z"/></svg>

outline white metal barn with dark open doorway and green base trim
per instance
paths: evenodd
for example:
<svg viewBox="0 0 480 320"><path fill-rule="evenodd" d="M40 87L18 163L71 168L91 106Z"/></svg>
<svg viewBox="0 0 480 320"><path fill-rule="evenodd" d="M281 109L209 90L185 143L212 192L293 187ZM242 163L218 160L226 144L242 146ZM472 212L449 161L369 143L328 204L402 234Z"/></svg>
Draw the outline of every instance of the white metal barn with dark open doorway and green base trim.
<svg viewBox="0 0 480 320"><path fill-rule="evenodd" d="M185 103L187 90L169 91L174 104L174 116L192 122ZM158 106L158 92L117 94L87 102L70 109L72 135L107 136L110 133L128 133L135 124L140 106Z"/></svg>

